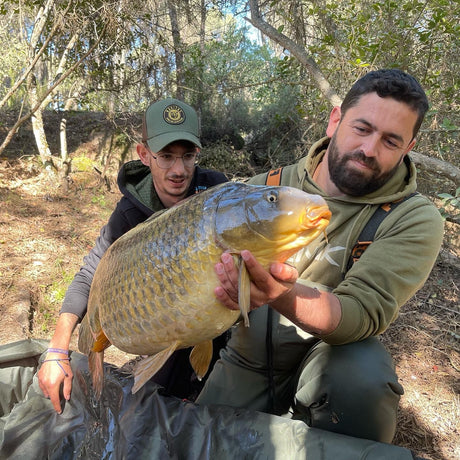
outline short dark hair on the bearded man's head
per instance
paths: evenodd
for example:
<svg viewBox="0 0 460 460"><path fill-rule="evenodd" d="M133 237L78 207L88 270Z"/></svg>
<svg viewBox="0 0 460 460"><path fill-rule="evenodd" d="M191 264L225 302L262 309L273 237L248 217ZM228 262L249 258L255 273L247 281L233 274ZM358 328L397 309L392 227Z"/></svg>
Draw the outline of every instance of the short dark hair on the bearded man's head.
<svg viewBox="0 0 460 460"><path fill-rule="evenodd" d="M377 93L380 97L391 97L407 104L418 117L412 131L415 137L428 111L428 99L420 83L411 75L399 69L380 69L367 73L357 80L348 91L341 105L342 116L358 104L361 96Z"/></svg>

